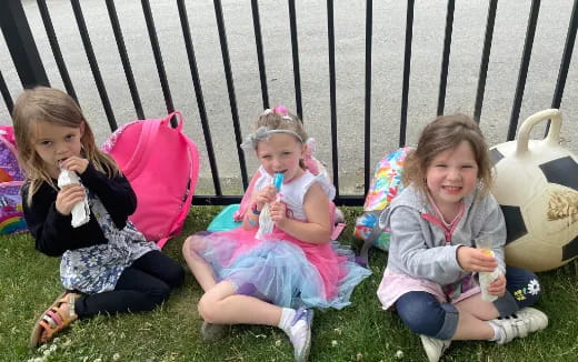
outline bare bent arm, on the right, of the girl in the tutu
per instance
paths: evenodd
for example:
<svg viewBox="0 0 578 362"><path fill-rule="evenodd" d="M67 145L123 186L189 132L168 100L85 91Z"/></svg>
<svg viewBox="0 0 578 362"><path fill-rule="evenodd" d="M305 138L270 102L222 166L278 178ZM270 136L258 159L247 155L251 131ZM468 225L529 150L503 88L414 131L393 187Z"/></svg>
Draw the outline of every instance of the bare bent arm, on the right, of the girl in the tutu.
<svg viewBox="0 0 578 362"><path fill-rule="evenodd" d="M287 218L282 202L271 203L271 219L278 228L306 242L325 243L331 240L329 200L319 184L309 188L303 198L303 209L308 222Z"/></svg>

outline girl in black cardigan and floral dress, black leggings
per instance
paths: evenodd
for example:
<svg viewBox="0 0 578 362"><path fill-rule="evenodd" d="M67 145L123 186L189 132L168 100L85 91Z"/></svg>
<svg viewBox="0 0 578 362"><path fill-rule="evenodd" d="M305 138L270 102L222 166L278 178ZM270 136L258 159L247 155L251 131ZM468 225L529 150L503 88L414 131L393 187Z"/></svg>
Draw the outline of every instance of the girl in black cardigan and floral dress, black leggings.
<svg viewBox="0 0 578 362"><path fill-rule="evenodd" d="M67 93L38 87L13 109L18 157L27 174L24 217L36 248L61 257L64 289L40 315L31 346L50 340L79 318L99 313L150 311L185 278L181 265L128 221L137 197L116 162L94 144L78 104ZM61 170L81 184L59 189ZM89 221L71 225L72 208L88 198Z"/></svg>

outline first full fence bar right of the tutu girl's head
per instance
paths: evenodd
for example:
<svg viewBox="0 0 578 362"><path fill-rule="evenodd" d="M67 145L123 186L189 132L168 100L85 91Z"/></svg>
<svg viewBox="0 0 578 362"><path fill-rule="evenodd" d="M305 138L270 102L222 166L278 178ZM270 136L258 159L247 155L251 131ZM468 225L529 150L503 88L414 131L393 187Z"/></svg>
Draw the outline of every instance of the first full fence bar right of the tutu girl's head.
<svg viewBox="0 0 578 362"><path fill-rule="evenodd" d="M331 168L336 197L339 197L339 154L337 149L337 97L336 97L336 36L333 0L327 0L327 43L329 52L329 103L331 107Z"/></svg>

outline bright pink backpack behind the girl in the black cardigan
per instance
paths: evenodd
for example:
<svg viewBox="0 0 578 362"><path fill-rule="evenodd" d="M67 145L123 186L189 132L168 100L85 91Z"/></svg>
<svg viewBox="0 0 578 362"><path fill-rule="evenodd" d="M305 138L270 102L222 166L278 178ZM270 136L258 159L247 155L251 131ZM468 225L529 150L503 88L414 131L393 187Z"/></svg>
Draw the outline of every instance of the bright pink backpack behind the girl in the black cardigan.
<svg viewBox="0 0 578 362"><path fill-rule="evenodd" d="M179 120L176 128L172 117ZM175 111L162 120L127 123L102 145L137 194L129 220L160 248L180 233L199 174L199 151L181 130L182 114Z"/></svg>

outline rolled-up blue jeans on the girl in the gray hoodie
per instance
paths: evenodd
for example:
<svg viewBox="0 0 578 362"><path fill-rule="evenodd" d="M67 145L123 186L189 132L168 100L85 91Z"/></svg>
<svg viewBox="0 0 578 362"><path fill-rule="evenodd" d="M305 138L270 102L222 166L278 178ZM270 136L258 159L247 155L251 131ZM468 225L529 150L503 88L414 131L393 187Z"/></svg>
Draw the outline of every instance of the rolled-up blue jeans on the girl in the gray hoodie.
<svg viewBox="0 0 578 362"><path fill-rule="evenodd" d="M538 301L540 284L530 271L506 268L506 293L494 301L500 316ZM458 328L458 310L451 303L440 303L428 292L408 292L396 301L396 309L403 323L413 333L449 340Z"/></svg>

